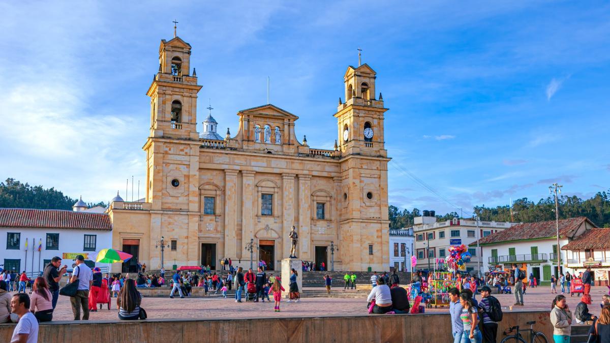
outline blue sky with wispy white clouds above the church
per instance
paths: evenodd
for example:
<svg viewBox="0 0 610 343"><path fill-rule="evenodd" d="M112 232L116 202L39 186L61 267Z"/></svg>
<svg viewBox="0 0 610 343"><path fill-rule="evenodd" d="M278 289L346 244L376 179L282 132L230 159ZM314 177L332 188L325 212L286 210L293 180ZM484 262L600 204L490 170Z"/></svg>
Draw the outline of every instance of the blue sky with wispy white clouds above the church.
<svg viewBox="0 0 610 343"><path fill-rule="evenodd" d="M238 110L266 103L270 76L298 137L332 148L343 73L362 48L390 109L400 208L470 213L537 201L555 181L579 197L609 189L610 5L491 3L2 2L0 178L85 201L144 180L145 92L176 19L203 85L198 121L211 98L221 135L237 133Z"/></svg>

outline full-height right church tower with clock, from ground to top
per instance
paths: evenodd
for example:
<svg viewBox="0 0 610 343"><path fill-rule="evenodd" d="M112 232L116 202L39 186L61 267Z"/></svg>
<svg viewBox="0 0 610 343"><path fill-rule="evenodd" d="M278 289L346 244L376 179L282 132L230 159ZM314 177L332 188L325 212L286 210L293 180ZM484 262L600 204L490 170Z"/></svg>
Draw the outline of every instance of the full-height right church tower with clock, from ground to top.
<svg viewBox="0 0 610 343"><path fill-rule="evenodd" d="M389 264L387 150L381 94L375 96L376 73L366 63L348 67L345 102L339 99L337 133L341 151L340 258L348 269L384 269ZM350 261L346 263L346 261Z"/></svg>

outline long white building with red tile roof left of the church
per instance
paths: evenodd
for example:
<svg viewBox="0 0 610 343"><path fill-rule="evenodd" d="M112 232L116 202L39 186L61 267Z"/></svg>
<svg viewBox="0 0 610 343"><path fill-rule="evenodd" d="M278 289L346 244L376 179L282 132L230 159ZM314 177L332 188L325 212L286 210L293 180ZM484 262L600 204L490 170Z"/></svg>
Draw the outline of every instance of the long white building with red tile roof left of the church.
<svg viewBox="0 0 610 343"><path fill-rule="evenodd" d="M0 245L2 267L35 275L59 256L71 270L74 256L95 260L99 250L111 248L109 215L78 210L0 208L0 240L6 242Z"/></svg>

